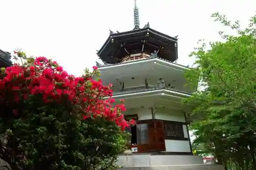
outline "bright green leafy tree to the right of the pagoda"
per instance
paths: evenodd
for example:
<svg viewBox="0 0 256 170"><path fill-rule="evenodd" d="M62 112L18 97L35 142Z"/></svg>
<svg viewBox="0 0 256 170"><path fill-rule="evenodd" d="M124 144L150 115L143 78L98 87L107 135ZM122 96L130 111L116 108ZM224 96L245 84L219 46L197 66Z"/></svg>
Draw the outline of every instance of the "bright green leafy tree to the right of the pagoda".
<svg viewBox="0 0 256 170"><path fill-rule="evenodd" d="M187 101L199 103L190 127L197 137L194 147L226 169L256 169L256 16L246 29L219 13L212 16L236 35L220 32L223 41L209 43L210 48L202 43L191 53L197 61L186 74L189 85L200 80L205 87Z"/></svg>

